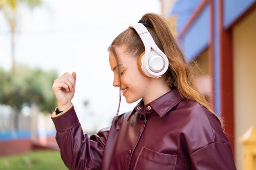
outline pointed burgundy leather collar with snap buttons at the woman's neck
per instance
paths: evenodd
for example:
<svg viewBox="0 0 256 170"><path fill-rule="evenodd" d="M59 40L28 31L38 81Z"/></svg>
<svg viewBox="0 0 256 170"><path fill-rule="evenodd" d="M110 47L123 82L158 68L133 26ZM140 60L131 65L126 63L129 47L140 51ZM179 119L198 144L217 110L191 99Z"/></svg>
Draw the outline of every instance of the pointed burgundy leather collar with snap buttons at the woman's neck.
<svg viewBox="0 0 256 170"><path fill-rule="evenodd" d="M173 107L175 107L182 99L183 98L179 95L177 88L175 88L163 96L160 96L154 101L148 103L147 105L144 105L143 100L140 100L140 102L133 109L128 120L136 111L137 113L141 113L144 110L146 112L151 112L154 110L160 117L162 117Z"/></svg>

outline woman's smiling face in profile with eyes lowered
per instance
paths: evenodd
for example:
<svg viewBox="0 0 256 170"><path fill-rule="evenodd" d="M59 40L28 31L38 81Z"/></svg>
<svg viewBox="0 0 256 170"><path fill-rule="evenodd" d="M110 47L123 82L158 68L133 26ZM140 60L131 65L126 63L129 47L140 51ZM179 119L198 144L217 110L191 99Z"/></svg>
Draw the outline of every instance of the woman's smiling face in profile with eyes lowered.
<svg viewBox="0 0 256 170"><path fill-rule="evenodd" d="M119 85L119 76L117 61L112 52L109 54L109 63L114 72L113 86L119 87L126 98L126 102L132 103L148 95L152 78L143 76L137 66L137 57L126 54L124 46L115 48L119 57L119 71L121 85Z"/></svg>

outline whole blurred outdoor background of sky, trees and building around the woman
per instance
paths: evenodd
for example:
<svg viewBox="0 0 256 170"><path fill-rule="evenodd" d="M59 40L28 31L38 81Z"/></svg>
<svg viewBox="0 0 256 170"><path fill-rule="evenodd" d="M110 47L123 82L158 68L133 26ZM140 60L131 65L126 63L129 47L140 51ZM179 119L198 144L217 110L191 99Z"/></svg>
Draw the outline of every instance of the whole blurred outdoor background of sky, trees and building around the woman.
<svg viewBox="0 0 256 170"><path fill-rule="evenodd" d="M77 74L72 102L84 132L111 125L119 89L107 48L147 12L171 24L245 169L243 143L256 133L256 0L0 0L1 170L66 169L50 118L64 72ZM122 98L120 114L136 104ZM256 167L256 149L251 156Z"/></svg>

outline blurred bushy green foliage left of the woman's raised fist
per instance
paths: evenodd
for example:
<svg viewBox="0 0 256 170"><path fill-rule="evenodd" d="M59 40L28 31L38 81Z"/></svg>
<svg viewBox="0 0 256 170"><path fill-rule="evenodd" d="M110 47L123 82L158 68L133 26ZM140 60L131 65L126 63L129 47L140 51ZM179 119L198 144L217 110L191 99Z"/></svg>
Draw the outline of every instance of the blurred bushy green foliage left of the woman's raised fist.
<svg viewBox="0 0 256 170"><path fill-rule="evenodd" d="M22 109L24 105L36 104L40 111L51 112L56 107L52 83L58 77L56 71L44 72L18 66L16 73L0 69L0 103Z"/></svg>

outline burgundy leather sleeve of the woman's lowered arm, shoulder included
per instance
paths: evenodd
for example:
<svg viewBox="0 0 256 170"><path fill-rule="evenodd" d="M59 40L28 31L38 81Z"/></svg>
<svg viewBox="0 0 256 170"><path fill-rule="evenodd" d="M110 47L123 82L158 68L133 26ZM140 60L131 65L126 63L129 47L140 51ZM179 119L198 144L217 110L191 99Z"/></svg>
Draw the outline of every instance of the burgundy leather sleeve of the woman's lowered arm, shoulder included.
<svg viewBox="0 0 256 170"><path fill-rule="evenodd" d="M220 120L205 107L194 107L186 128L191 170L236 170Z"/></svg>

